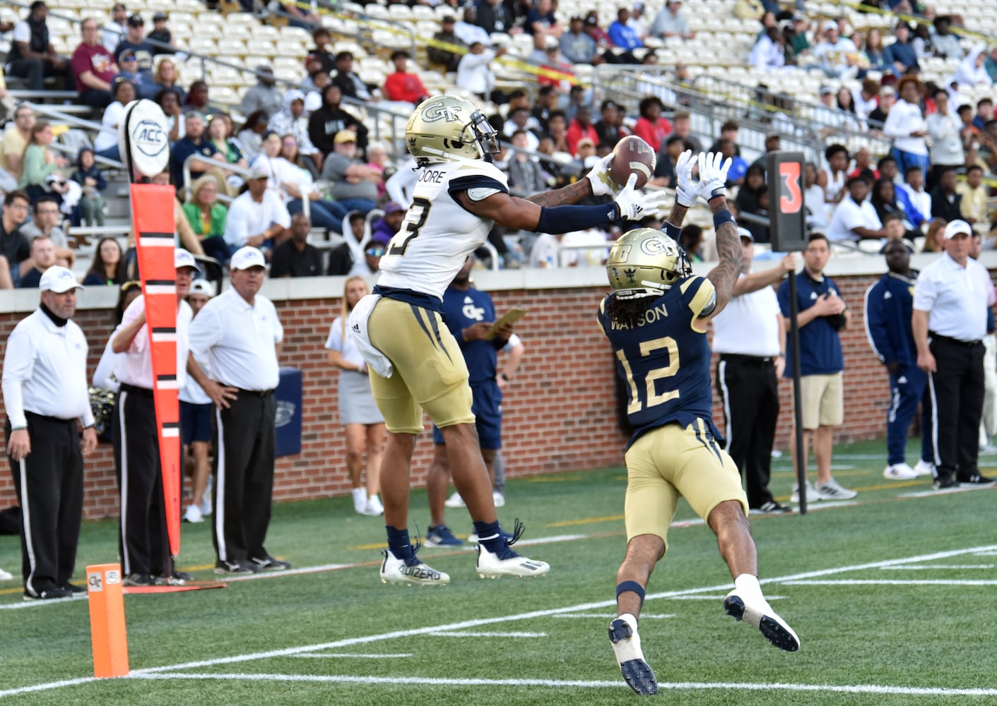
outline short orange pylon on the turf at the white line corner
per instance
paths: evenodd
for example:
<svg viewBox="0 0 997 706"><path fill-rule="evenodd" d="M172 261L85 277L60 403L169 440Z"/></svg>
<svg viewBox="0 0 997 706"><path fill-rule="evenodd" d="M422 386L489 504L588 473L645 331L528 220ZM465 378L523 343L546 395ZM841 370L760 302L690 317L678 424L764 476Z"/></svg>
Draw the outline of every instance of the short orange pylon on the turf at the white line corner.
<svg viewBox="0 0 997 706"><path fill-rule="evenodd" d="M94 646L94 676L127 676L128 635L120 564L87 567L90 639Z"/></svg>

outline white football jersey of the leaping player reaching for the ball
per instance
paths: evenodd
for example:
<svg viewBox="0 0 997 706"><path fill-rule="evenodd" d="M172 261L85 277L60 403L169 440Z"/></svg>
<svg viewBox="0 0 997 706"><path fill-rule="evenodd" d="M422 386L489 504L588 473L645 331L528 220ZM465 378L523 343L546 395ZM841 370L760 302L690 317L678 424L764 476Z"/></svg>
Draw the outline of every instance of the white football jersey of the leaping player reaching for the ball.
<svg viewBox="0 0 997 706"><path fill-rule="evenodd" d="M458 191L480 201L507 193L508 183L495 164L481 159L420 168L412 205L381 258L379 286L443 299L468 255L485 243L495 225L466 210L454 197Z"/></svg>

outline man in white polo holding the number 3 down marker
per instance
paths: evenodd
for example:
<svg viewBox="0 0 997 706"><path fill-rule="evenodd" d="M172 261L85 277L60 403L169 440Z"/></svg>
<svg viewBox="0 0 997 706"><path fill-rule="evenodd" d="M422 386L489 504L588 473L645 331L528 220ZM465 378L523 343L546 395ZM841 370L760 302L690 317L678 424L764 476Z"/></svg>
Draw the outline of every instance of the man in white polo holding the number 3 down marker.
<svg viewBox="0 0 997 706"><path fill-rule="evenodd" d="M742 270L751 268L754 237L738 228ZM797 267L793 253L769 270L742 272L727 308L713 318L713 350L720 354L717 388L724 403L727 452L745 479L753 514L793 512L769 490L772 445L779 421L779 377L786 369L786 336L776 284Z"/></svg>

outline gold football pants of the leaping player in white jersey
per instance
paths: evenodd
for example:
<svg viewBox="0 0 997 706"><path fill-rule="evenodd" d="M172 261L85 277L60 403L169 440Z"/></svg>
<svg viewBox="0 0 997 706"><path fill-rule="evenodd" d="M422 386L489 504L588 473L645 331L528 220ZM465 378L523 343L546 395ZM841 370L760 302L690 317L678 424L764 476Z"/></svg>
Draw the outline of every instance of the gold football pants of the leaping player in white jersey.
<svg viewBox="0 0 997 706"><path fill-rule="evenodd" d="M382 297L368 320L371 343L395 368L391 377L370 370L371 389L388 431L418 434L423 409L441 429L474 424L468 365L442 317Z"/></svg>

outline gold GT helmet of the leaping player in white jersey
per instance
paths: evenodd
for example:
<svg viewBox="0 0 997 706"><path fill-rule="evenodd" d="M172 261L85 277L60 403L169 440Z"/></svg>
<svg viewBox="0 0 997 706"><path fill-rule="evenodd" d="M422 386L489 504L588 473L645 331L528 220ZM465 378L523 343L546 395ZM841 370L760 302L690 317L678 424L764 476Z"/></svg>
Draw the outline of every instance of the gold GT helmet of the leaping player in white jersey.
<svg viewBox="0 0 997 706"><path fill-rule="evenodd" d="M481 159L498 152L498 132L468 101L434 96L419 104L409 118L405 144L420 166Z"/></svg>

